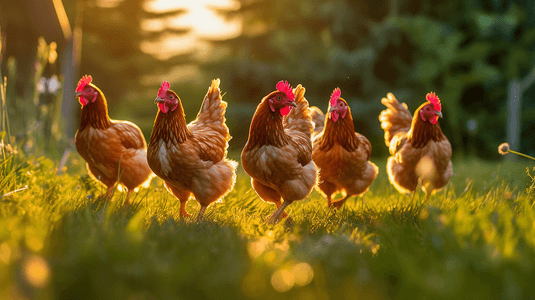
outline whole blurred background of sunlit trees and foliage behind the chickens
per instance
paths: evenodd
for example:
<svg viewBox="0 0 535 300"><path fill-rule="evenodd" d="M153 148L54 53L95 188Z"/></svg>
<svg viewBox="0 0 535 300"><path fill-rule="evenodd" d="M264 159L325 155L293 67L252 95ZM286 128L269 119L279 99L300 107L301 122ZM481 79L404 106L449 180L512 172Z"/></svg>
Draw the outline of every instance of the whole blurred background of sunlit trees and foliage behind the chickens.
<svg viewBox="0 0 535 300"><path fill-rule="evenodd" d="M454 155L497 159L497 145L511 139L510 120L522 124L518 150L535 154L535 0L63 0L63 7L73 54L53 35L31 36L33 44L20 46L17 39L28 33L14 31L23 26L13 20L36 22L20 17L32 11L16 15L5 0L0 7L2 74L7 93L18 97L8 104L11 131L24 139L24 132L38 128L55 141L51 150L68 147L78 126L79 105L62 103L62 92L91 74L110 116L135 122L147 138L162 80L171 82L191 121L218 77L229 102L230 150L240 151L256 105L287 79L303 84L311 105L323 110L340 87L374 156L387 155L381 97L393 92L412 111L429 91L442 100L440 122ZM60 59L51 64L47 57L54 52ZM65 55L75 57L70 82L62 72ZM47 72L65 85L43 100L32 86L24 88L24 80L38 81ZM515 83L520 113L508 111ZM66 116L74 121L64 122Z"/></svg>

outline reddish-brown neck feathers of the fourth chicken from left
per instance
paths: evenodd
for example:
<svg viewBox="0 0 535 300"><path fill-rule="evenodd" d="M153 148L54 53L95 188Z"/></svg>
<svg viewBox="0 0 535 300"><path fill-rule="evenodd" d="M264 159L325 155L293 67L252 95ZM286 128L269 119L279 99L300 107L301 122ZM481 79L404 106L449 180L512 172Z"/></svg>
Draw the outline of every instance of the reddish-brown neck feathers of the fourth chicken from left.
<svg viewBox="0 0 535 300"><path fill-rule="evenodd" d="M348 112L344 118L339 118L334 122L329 115L325 118L325 127L319 147L323 151L331 149L334 144L339 144L347 151L355 151L359 146L359 140L355 134L355 126L353 125L353 117L349 107Z"/></svg>

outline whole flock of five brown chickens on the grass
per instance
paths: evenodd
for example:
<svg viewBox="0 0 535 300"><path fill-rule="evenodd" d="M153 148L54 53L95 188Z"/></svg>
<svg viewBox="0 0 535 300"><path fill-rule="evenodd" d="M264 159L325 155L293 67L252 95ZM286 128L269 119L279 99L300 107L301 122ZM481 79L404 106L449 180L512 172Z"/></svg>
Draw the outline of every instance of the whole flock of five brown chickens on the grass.
<svg viewBox="0 0 535 300"><path fill-rule="evenodd" d="M107 186L105 198L120 183L128 191L128 205L130 193L155 174L180 201L181 217L189 216L186 202L191 196L199 202L200 220L208 205L232 190L238 163L226 157L231 137L219 79L212 81L189 124L180 98L164 81L154 100L159 110L148 147L135 124L110 119L104 93L91 82L86 75L76 87L82 115L75 141L89 174ZM277 206L271 223L287 217L284 209L314 187L329 207L339 208L349 197L366 193L379 172L369 161L370 142L355 132L340 89L333 91L327 114L309 107L304 95L303 86L293 89L280 81L260 101L241 153L258 196ZM387 107L379 120L392 155L387 164L390 182L400 193L414 193L421 186L429 197L452 175L451 144L438 123L439 98L427 94L414 116L391 93L381 102ZM337 192L342 197L332 199Z"/></svg>

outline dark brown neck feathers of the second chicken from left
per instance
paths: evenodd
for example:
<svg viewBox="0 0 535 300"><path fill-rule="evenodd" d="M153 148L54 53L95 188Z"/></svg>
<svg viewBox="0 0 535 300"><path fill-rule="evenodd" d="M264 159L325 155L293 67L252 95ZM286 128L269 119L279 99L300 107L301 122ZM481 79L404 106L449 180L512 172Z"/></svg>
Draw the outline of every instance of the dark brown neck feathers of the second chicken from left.
<svg viewBox="0 0 535 300"><path fill-rule="evenodd" d="M169 142L183 143L192 136L193 134L189 131L188 124L186 124L182 103L179 103L174 111L163 113L158 110L149 144L158 143L160 139L166 144Z"/></svg>

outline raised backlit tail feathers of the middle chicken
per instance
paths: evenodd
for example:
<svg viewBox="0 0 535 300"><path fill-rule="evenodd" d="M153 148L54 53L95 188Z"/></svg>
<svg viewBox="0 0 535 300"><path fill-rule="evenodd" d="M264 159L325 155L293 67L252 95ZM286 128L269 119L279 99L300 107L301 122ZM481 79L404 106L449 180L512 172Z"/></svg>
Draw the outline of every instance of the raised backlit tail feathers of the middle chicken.
<svg viewBox="0 0 535 300"><path fill-rule="evenodd" d="M310 138L314 131L314 125L310 117L308 101L305 99L305 91L306 89L300 84L294 89L295 104L297 106L284 117L283 126L284 129L304 132Z"/></svg>

